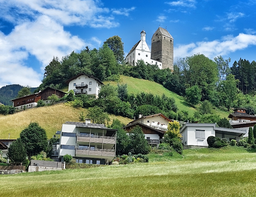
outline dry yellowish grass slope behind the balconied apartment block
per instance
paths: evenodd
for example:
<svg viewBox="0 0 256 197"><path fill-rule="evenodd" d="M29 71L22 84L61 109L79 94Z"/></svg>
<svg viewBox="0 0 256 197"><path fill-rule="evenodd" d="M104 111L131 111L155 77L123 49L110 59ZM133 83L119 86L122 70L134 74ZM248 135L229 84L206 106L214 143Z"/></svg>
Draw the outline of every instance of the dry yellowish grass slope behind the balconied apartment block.
<svg viewBox="0 0 256 197"><path fill-rule="evenodd" d="M79 110L65 104L56 104L54 106L27 109L12 115L0 115L0 139L8 139L9 133L10 139L18 138L20 132L30 122L38 122L46 130L47 137L52 138L66 121L79 122L78 117L81 110L84 111L84 115L87 114L86 109ZM132 121L129 118L111 115L110 119L113 120L113 118L118 118L124 124Z"/></svg>

